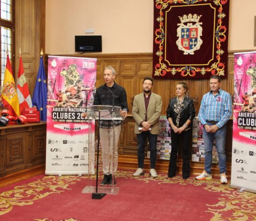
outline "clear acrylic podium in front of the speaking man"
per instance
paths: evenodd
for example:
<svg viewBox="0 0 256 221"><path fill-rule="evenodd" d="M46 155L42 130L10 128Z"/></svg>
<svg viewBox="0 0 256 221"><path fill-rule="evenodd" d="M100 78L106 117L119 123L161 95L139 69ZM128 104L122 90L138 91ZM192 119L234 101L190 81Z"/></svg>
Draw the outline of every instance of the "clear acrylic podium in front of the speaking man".
<svg viewBox="0 0 256 221"><path fill-rule="evenodd" d="M108 106L108 105L92 105L88 108L86 113L86 118L89 119L89 122L95 120L124 120L124 117L120 115L121 107L116 106ZM92 124L90 124L92 125ZM100 129L98 122L98 139L97 139L97 155L95 159L95 151L94 151L94 127L89 126L89 145L88 145L88 186L82 189L82 193L92 193L92 199L102 199L106 194L114 194L116 195L119 192L119 187L114 186L115 182L115 173L113 171L109 171L112 174L112 185L108 187L98 187L98 173L99 173L99 143L100 143ZM115 139L119 139L119 137L115 137L114 128L113 128L113 144L115 144ZM114 170L114 151L110 155L110 166ZM95 168L96 166L96 168ZM96 183L92 178L96 172Z"/></svg>

